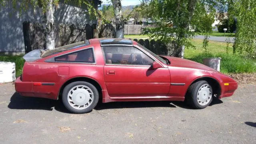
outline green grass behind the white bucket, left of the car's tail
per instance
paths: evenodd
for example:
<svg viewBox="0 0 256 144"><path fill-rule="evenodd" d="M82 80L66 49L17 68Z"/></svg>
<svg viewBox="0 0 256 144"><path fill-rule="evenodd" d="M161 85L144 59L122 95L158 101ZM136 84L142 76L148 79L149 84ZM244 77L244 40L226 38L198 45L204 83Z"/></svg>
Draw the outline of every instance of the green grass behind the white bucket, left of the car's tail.
<svg viewBox="0 0 256 144"><path fill-rule="evenodd" d="M20 76L25 60L22 56L0 56L0 62L15 62L16 76Z"/></svg>

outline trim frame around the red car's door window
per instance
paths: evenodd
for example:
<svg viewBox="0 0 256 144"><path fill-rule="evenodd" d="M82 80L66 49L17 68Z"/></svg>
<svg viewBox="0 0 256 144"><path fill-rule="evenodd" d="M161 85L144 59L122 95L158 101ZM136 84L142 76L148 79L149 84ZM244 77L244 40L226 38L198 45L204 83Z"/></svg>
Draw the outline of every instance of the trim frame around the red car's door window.
<svg viewBox="0 0 256 144"><path fill-rule="evenodd" d="M127 46L127 45L108 45L108 46ZM140 50L140 48L137 48L135 47L134 45L128 45L127 47L134 47L138 50ZM151 66L151 65L140 65L140 64L106 64L106 58L105 58L105 52L103 50L103 46L101 46L101 50L102 50L102 54L103 54L103 58L104 58L104 62L105 62L105 65L114 65L114 66L143 66L143 67L148 67L148 66ZM144 51L140 50L142 53L146 54ZM152 56L149 56L148 54L146 54L146 56L150 57L153 62L158 62L155 60L155 58L152 58ZM159 63L159 62L158 62ZM162 66L162 64L160 64Z"/></svg>

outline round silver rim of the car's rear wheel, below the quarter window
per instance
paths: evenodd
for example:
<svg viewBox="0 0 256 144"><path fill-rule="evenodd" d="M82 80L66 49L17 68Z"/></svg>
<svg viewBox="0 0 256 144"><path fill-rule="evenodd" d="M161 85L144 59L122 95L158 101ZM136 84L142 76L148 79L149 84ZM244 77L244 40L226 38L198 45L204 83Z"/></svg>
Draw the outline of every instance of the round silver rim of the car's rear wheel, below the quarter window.
<svg viewBox="0 0 256 144"><path fill-rule="evenodd" d="M78 85L68 92L68 104L77 110L88 108L94 99L94 94L88 86Z"/></svg>

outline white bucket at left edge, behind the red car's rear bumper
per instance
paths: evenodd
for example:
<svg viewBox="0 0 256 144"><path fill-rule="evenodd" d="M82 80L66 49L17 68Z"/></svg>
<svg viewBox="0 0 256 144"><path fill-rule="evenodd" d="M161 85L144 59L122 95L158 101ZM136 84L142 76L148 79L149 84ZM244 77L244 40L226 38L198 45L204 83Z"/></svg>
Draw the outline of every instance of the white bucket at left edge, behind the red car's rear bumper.
<svg viewBox="0 0 256 144"><path fill-rule="evenodd" d="M13 82L16 79L15 63L0 62L0 83Z"/></svg>

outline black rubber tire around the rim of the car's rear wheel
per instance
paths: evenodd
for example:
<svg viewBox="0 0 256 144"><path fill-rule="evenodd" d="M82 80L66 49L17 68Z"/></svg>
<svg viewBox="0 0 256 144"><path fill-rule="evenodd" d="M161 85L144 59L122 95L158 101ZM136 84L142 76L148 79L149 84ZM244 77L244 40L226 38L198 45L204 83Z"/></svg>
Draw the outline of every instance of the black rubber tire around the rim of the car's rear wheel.
<svg viewBox="0 0 256 144"><path fill-rule="evenodd" d="M71 90L71 88L73 88L74 86L78 86L78 85L88 86L92 90L93 95L94 95L92 104L90 106L88 106L88 108L85 108L83 110L75 109L72 106L70 106L70 104L68 103L68 92ZM92 109L94 109L95 106L97 105L98 101L99 101L99 92L98 92L97 88L94 85L90 84L89 82L84 82L84 81L72 82L64 88L63 93L62 93L62 102L63 102L64 106L70 112L76 113L76 114L84 114L87 112L91 112Z"/></svg>

